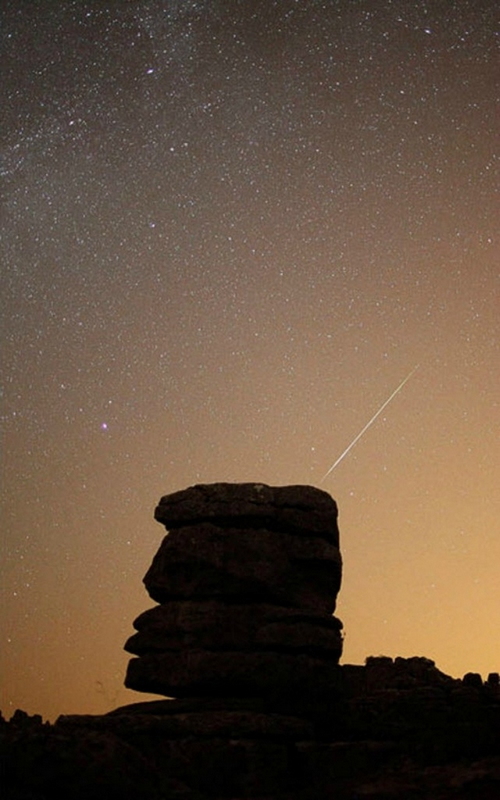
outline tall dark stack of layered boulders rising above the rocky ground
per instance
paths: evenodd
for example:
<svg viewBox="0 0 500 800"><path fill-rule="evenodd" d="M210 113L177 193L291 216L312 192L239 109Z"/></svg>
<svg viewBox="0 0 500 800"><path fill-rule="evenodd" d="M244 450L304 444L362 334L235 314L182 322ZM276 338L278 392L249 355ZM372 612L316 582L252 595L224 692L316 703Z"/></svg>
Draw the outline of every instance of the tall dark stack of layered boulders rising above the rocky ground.
<svg viewBox="0 0 500 800"><path fill-rule="evenodd" d="M325 698L342 652L337 506L310 486L193 486L160 500L125 685L175 698Z"/></svg>

